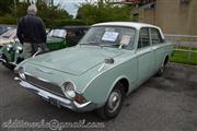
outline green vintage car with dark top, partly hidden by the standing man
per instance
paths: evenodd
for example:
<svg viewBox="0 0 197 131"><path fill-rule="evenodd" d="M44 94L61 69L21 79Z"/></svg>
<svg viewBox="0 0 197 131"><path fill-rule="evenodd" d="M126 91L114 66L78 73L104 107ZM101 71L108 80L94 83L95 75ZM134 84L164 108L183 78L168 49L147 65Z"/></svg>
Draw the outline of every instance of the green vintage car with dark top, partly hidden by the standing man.
<svg viewBox="0 0 197 131"><path fill-rule="evenodd" d="M46 46L49 51L74 46L88 29L89 27L86 26L65 26L53 28L47 35ZM9 33L11 31L9 31ZM10 37L9 33L7 33L4 36ZM12 38L7 39L8 41L3 41L3 47L0 49L0 61L2 61L3 66L13 70L15 66L24 60L23 46L19 43L19 40L14 40Z"/></svg>

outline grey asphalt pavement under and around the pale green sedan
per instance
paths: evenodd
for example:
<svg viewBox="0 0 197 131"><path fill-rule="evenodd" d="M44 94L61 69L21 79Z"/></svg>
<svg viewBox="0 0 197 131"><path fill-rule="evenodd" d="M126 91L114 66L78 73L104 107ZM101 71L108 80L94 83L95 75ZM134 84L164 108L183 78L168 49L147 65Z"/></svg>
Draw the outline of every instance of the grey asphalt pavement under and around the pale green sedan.
<svg viewBox="0 0 197 131"><path fill-rule="evenodd" d="M13 73L0 68L0 123L8 120L37 122L103 122L104 131L197 131L197 67L171 63L163 78L152 78L125 100L120 115L102 121L94 112L59 109L21 88ZM34 131L38 129L23 129ZM48 131L48 129L39 129ZM39 131L38 130L38 131ZM80 130L80 129L72 129ZM88 129L93 130L93 129ZM0 128L0 131L22 129Z"/></svg>

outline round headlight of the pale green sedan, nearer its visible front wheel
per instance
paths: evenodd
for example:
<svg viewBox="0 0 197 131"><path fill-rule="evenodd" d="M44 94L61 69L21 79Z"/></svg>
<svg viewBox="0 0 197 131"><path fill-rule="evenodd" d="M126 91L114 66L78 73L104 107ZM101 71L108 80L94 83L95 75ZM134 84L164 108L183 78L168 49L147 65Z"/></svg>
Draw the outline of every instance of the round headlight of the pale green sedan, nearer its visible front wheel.
<svg viewBox="0 0 197 131"><path fill-rule="evenodd" d="M61 85L61 90L63 94L70 99L73 99L76 97L76 87L71 82L63 83Z"/></svg>

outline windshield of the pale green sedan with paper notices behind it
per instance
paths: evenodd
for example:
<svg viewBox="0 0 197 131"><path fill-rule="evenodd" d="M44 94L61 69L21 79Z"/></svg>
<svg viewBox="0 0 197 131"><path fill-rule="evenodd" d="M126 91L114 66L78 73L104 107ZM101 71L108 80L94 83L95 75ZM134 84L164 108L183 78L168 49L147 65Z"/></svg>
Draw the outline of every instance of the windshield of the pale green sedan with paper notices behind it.
<svg viewBox="0 0 197 131"><path fill-rule="evenodd" d="M80 45L119 47L128 49L132 47L135 29L120 26L92 27L79 43Z"/></svg>

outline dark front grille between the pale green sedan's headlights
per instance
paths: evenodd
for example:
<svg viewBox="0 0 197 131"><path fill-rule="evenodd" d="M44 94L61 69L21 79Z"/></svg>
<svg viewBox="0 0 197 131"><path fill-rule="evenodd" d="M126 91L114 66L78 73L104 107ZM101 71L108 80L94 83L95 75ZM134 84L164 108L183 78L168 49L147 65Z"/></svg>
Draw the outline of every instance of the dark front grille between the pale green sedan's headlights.
<svg viewBox="0 0 197 131"><path fill-rule="evenodd" d="M25 78L28 83L35 85L36 87L39 87L42 90L45 90L45 91L56 94L58 96L65 97L65 94L62 93L60 86L58 86L54 83L44 82L35 76L31 76L27 74L25 75Z"/></svg>

